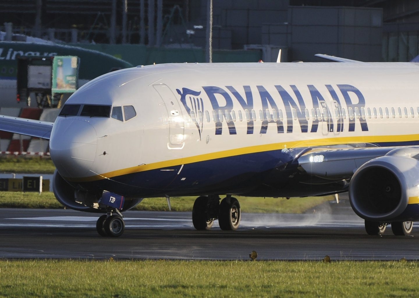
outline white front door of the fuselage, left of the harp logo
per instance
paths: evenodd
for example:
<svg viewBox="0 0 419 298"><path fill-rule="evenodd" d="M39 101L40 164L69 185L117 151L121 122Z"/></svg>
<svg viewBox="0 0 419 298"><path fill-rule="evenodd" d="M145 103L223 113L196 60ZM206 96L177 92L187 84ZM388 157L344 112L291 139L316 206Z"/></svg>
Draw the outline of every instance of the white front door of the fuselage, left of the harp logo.
<svg viewBox="0 0 419 298"><path fill-rule="evenodd" d="M153 87L163 100L163 103L160 103L160 105L164 105L166 107L168 115L167 125L169 141L167 146L169 149L182 149L185 144L185 126L181 106L179 105L179 102L172 90L170 90L166 84L153 85Z"/></svg>

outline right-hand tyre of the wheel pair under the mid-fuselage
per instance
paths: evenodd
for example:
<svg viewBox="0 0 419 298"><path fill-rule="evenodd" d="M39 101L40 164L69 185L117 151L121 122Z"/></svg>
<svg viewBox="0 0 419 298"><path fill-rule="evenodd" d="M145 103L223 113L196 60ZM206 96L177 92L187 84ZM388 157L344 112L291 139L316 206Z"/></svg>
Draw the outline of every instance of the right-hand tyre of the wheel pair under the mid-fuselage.
<svg viewBox="0 0 419 298"><path fill-rule="evenodd" d="M240 204L236 198L224 198L220 203L218 224L224 231L235 231L240 224Z"/></svg>

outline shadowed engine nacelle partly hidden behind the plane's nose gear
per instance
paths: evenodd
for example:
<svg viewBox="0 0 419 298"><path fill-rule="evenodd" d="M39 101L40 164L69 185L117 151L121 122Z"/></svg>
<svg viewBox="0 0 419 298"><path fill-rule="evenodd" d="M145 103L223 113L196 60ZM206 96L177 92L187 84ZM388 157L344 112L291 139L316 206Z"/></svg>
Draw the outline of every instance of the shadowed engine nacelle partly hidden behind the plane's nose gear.
<svg viewBox="0 0 419 298"><path fill-rule="evenodd" d="M52 190L55 198L67 208L95 213L106 213L110 210L109 206L98 203L101 198L101 193L94 194L84 190L78 190L70 185L65 179L59 175L55 170L52 178ZM124 201L124 205L120 211L127 211L142 201L142 198L129 199Z"/></svg>

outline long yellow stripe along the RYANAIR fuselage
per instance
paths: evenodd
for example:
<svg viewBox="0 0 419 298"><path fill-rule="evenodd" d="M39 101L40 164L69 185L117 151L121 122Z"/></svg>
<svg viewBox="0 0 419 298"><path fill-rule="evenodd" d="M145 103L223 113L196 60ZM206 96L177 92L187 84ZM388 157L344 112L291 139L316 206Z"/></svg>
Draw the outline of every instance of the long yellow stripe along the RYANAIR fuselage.
<svg viewBox="0 0 419 298"><path fill-rule="evenodd" d="M309 136L309 133L305 134ZM281 136L281 135L278 135ZM419 134L411 135L399 135L399 136L356 136L356 137L336 137L336 138L325 138L325 139L306 139L303 141L290 141L284 143L274 143L258 146L249 146L238 149L231 149L219 152L212 152L207 154L201 154L191 157L184 157L183 159L171 159L163 162L155 162L152 164L143 164L137 167L129 167L127 169L116 170L107 172L101 175L95 175L85 178L65 178L68 181L73 182L91 182L121 175L127 175L137 172L143 172L148 170L155 170L164 167L173 167L179 164L191 164L194 162L202 162L211 159L232 157L241 154L266 152L272 150L281 150L284 148L301 148L301 147L313 147L313 146L329 146L338 144L356 144L356 143L383 143L383 142L406 142L406 141L417 141L419 140Z"/></svg>

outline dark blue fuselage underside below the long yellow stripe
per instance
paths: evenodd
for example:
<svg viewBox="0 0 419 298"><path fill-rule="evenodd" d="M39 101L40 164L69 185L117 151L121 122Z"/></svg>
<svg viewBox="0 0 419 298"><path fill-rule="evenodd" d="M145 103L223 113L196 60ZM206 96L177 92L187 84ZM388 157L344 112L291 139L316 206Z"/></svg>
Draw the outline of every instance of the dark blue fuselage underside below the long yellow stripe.
<svg viewBox="0 0 419 298"><path fill-rule="evenodd" d="M413 146L419 141L383 143L388 146ZM378 145L378 144L377 144ZM126 197L163 197L180 195L241 194L288 197L323 195L347 191L340 180L311 177L297 169L296 157L307 148L273 150L181 164L144 172L77 183L86 189L104 189ZM184 178L184 179L183 179ZM183 179L183 180L182 180ZM322 183L315 183L316 179Z"/></svg>

